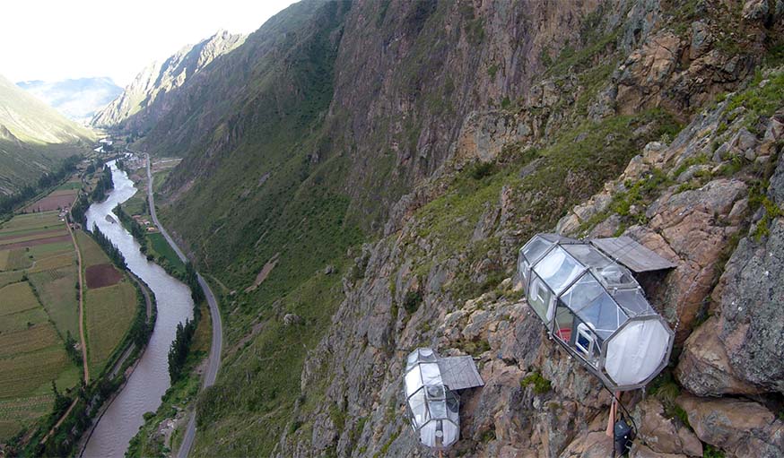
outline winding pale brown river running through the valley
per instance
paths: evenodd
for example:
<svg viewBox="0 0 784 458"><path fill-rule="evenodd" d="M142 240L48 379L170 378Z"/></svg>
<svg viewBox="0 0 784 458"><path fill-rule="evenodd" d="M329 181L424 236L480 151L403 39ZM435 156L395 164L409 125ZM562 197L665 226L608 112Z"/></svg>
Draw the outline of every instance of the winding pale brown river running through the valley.
<svg viewBox="0 0 784 458"><path fill-rule="evenodd" d="M177 324L193 315L190 290L172 278L158 264L147 261L139 251L139 244L118 222L112 213L118 203L124 203L137 189L126 172L119 170L114 161L109 162L114 190L103 203L93 203L87 212L87 224L97 224L118 246L126 257L128 268L149 285L158 303L158 319L150 343L126 386L118 393L109 409L100 417L98 425L87 442L83 457L114 458L126 453L128 442L144 423L144 412L154 411L161 405L161 396L169 388L168 354ZM89 313L89 311L88 311Z"/></svg>

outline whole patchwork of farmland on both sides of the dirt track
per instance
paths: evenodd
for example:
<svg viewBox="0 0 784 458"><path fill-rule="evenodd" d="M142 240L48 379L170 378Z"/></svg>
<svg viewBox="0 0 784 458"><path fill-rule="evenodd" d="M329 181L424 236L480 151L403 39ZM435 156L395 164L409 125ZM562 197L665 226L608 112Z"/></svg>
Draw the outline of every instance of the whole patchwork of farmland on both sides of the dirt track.
<svg viewBox="0 0 784 458"><path fill-rule="evenodd" d="M53 381L69 395L83 378L77 256L58 211L73 203L76 184L0 224L0 443L51 412ZM131 323L135 289L89 235L74 235L87 280L83 324L94 378ZM70 355L69 338L77 342Z"/></svg>

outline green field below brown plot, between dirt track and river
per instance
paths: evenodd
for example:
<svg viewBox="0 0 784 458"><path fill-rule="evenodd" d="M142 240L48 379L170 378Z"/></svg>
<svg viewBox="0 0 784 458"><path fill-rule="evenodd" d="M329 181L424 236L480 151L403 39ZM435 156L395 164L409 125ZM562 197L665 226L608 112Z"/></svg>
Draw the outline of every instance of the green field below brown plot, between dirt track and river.
<svg viewBox="0 0 784 458"><path fill-rule="evenodd" d="M85 309L90 375L98 376L134 319L136 290L128 280L88 289Z"/></svg>

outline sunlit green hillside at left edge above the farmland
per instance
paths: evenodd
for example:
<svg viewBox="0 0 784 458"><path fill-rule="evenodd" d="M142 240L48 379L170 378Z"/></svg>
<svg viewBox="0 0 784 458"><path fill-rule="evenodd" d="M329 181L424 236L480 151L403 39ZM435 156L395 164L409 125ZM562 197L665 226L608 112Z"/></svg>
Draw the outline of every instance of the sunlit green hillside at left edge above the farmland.
<svg viewBox="0 0 784 458"><path fill-rule="evenodd" d="M12 194L57 169L95 136L0 76L0 194Z"/></svg>

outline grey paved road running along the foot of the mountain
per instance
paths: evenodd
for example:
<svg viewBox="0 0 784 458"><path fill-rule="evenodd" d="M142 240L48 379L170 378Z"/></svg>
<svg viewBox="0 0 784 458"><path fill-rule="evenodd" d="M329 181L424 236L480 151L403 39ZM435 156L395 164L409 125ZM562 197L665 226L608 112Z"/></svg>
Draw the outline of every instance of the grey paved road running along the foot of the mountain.
<svg viewBox="0 0 784 458"><path fill-rule="evenodd" d="M169 236L169 233L166 232L166 229L163 229L161 226L161 222L158 220L158 216L155 214L155 200L152 196L152 169L151 169L151 160L150 155L146 154L147 156L147 202L148 206L150 207L150 216L152 217L152 222L155 223L155 226L161 231L163 238L166 238L166 241L169 242L169 245L174 248L175 253L179 256L179 259L182 260L183 263L187 263L186 255L179 249L174 240ZM207 364L207 370L205 372L204 384L202 385L203 388L208 386L212 386L215 383L215 376L218 375L218 369L221 367L221 351L223 348L223 325L221 322L221 313L218 311L218 301L215 299L215 295L213 294L213 290L210 289L210 286L207 284L204 278L202 278L201 274L196 273L198 276L199 285L205 291L205 297L207 298L207 304L210 306L210 317L213 320L213 343L210 347L210 359L209 363ZM182 438L182 444L179 446L179 452L177 454L178 458L187 458L187 454L190 452L191 447L193 446L193 441L196 438L196 410L192 411L190 414L190 419L187 421L187 428L185 431L185 436Z"/></svg>

